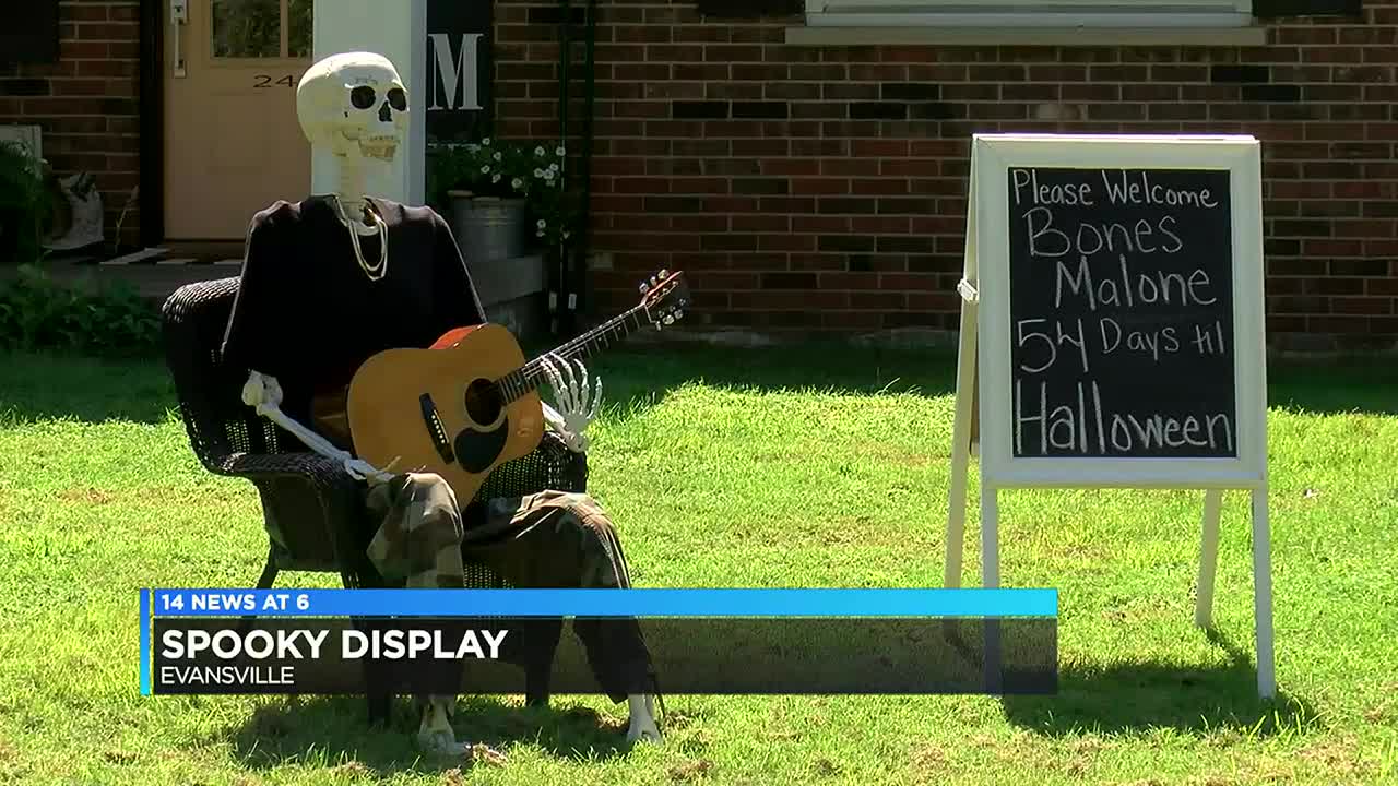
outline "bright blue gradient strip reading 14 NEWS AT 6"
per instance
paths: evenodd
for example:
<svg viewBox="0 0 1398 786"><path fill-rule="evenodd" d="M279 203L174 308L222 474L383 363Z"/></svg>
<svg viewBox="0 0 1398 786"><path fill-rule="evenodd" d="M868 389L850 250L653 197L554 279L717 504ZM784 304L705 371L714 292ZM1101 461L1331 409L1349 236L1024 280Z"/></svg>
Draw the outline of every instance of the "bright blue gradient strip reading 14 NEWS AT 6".
<svg viewBox="0 0 1398 786"><path fill-rule="evenodd" d="M143 593L145 590L141 590ZM154 617L1057 617L1055 589L157 589Z"/></svg>

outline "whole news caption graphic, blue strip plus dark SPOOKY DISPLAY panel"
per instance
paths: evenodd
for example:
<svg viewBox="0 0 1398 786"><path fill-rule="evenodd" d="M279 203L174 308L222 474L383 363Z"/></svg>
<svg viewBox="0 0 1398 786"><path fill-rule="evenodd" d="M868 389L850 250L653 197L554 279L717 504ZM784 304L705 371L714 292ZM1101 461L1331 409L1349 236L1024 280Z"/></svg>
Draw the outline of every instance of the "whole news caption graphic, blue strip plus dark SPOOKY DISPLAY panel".
<svg viewBox="0 0 1398 786"><path fill-rule="evenodd" d="M141 692L1053 694L1053 589L143 589ZM594 662L596 660L596 662ZM635 673L626 694L651 692Z"/></svg>

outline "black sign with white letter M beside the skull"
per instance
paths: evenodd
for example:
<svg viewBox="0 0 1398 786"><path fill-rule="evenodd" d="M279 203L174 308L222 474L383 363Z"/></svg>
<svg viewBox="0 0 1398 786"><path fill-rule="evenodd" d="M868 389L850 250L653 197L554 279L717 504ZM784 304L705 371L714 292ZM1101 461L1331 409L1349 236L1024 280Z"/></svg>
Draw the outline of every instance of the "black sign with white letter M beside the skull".
<svg viewBox="0 0 1398 786"><path fill-rule="evenodd" d="M493 0L428 0L428 143L489 133L493 116Z"/></svg>

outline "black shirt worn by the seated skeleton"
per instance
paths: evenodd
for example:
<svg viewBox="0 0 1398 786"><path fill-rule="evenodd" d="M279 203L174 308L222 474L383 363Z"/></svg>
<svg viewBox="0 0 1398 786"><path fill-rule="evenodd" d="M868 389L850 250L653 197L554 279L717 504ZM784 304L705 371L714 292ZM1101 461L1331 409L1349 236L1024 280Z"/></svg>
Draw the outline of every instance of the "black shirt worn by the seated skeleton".
<svg viewBox="0 0 1398 786"><path fill-rule="evenodd" d="M312 399L344 390L376 352L429 347L485 322L446 221L429 207L372 203L389 227L389 269L377 281L355 260L331 197L277 201L247 231L224 358L277 378L282 413L308 427ZM369 264L380 259L377 235L361 236L361 248Z"/></svg>

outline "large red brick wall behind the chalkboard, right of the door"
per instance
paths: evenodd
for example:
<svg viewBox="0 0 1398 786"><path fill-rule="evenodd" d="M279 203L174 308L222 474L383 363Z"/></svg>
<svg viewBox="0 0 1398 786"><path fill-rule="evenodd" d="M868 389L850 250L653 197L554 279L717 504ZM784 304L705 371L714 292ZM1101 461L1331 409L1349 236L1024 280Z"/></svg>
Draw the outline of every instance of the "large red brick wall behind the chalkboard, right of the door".
<svg viewBox="0 0 1398 786"><path fill-rule="evenodd" d="M1264 141L1272 336L1398 340L1398 0L1258 48L802 48L795 18L600 6L604 309L668 266L709 327L955 329L972 131L1241 131ZM498 0L502 137L555 133L556 15Z"/></svg>

